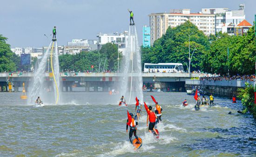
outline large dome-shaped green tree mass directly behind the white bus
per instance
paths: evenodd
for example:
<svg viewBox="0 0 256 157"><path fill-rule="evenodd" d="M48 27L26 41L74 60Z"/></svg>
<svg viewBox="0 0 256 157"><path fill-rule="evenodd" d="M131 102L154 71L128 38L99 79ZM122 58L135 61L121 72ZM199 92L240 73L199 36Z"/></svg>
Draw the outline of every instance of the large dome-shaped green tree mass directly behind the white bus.
<svg viewBox="0 0 256 157"><path fill-rule="evenodd" d="M189 34L190 55L196 49L190 69L200 69L210 44L208 37L189 21L175 28L169 27L152 47L141 47L142 63L183 63L186 66L186 63L189 64Z"/></svg>

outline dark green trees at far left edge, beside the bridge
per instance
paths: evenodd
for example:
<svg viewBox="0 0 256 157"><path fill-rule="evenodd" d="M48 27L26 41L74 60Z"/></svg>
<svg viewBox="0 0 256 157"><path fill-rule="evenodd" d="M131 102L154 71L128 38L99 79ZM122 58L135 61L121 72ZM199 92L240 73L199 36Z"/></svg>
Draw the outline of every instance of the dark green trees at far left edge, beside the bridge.
<svg viewBox="0 0 256 157"><path fill-rule="evenodd" d="M14 71L16 65L13 62L14 53L10 45L6 43L7 38L0 34L0 72Z"/></svg>

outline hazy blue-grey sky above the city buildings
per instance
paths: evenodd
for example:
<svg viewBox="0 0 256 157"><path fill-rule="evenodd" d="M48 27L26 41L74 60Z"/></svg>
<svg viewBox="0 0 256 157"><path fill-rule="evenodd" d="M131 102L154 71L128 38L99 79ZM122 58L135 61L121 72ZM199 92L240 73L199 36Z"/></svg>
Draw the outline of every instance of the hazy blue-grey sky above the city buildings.
<svg viewBox="0 0 256 157"><path fill-rule="evenodd" d="M253 24L256 0L3 0L0 9L0 34L14 47L42 47L57 27L58 45L72 39L97 39L101 33L129 29L128 8L134 12L139 43L142 26L148 25L150 13L170 12L171 9L229 8L238 10L245 4L246 20Z"/></svg>

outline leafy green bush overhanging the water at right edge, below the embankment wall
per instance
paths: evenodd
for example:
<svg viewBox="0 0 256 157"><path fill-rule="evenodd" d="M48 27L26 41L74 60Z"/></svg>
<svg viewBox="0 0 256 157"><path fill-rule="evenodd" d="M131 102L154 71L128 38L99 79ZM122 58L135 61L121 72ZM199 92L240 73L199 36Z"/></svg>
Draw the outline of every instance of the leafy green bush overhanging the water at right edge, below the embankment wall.
<svg viewBox="0 0 256 157"><path fill-rule="evenodd" d="M243 104L243 113L250 113L256 118L256 105L254 104L254 87L245 83L245 88L238 89L239 95L238 98L241 99Z"/></svg>

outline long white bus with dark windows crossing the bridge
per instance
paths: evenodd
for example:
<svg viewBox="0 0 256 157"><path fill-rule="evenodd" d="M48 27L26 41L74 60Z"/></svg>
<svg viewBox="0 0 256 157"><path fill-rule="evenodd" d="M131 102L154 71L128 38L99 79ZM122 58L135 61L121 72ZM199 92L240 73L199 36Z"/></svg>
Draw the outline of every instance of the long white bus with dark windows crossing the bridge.
<svg viewBox="0 0 256 157"><path fill-rule="evenodd" d="M144 73L182 73L183 65L182 63L144 63Z"/></svg>

